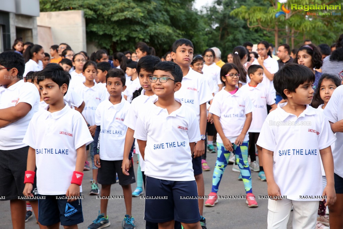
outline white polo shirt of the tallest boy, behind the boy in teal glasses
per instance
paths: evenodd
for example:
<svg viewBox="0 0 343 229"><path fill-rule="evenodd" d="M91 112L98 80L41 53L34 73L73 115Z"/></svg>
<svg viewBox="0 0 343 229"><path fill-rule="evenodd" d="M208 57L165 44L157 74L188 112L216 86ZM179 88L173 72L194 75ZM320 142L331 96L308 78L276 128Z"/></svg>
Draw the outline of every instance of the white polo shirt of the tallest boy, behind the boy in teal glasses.
<svg viewBox="0 0 343 229"><path fill-rule="evenodd" d="M174 94L182 104L191 107L200 123L200 105L213 99L209 85L204 76L189 68L189 72L182 78L181 88Z"/></svg>

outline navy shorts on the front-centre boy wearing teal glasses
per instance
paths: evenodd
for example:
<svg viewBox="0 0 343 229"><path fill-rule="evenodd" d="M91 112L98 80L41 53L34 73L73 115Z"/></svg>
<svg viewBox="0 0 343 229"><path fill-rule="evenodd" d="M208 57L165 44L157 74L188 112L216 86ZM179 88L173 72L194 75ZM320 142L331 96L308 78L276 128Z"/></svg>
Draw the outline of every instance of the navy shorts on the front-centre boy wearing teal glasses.
<svg viewBox="0 0 343 229"><path fill-rule="evenodd" d="M166 181L146 176L145 197L167 199L145 199L144 219L150 222L171 220L192 224L200 221L198 189L195 181ZM186 198L184 198L186 197Z"/></svg>

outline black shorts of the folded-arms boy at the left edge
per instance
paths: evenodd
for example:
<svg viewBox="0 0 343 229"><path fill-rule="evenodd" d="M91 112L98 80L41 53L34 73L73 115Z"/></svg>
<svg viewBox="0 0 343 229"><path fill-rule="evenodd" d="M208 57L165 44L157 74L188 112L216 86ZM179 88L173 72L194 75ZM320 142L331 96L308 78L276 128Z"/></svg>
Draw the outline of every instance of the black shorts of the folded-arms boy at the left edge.
<svg viewBox="0 0 343 229"><path fill-rule="evenodd" d="M18 196L24 196L28 148L26 146L13 150L0 150L0 196L4 196L4 199L0 199L1 201L18 199ZM36 176L32 193L34 195L38 194ZM35 201L35 199L26 199L25 201Z"/></svg>

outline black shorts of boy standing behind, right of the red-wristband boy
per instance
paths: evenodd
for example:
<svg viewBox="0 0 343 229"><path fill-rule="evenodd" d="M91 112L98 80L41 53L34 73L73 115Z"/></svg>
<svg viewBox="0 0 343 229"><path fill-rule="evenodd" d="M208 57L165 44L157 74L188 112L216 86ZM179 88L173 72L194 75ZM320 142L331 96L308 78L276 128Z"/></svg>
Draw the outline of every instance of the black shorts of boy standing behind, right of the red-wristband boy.
<svg viewBox="0 0 343 229"><path fill-rule="evenodd" d="M121 170L121 163L123 160L119 161L105 161L100 159L101 167L98 169L97 181L99 184L109 185L115 184L116 173L118 174L119 185L129 185L136 182L133 170L133 163L131 161L131 168L129 169L130 175L124 175Z"/></svg>

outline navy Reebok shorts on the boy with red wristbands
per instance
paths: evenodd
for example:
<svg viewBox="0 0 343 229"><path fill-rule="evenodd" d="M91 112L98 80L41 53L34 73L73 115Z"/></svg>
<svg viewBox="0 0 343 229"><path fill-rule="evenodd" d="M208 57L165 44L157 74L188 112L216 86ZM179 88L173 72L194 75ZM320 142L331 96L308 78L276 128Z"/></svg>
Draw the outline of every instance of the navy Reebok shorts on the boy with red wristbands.
<svg viewBox="0 0 343 229"><path fill-rule="evenodd" d="M42 196L42 195L40 195ZM56 195L65 197L66 195ZM61 222L62 226L71 226L83 222L81 199L67 203L67 199L45 196L38 199L38 222L50 226Z"/></svg>

